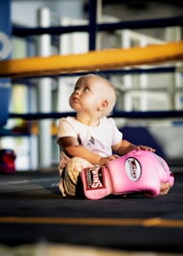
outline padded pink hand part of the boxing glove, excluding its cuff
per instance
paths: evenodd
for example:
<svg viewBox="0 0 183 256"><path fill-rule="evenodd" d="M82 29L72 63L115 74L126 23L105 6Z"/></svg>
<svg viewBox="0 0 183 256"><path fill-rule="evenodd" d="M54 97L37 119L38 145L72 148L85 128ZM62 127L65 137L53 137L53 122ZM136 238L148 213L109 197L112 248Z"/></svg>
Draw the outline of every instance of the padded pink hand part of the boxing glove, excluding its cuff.
<svg viewBox="0 0 183 256"><path fill-rule="evenodd" d="M141 192L146 197L156 197L160 193L161 183L172 186L174 176L167 162L157 154L145 150L133 150L128 154L107 163L112 179L113 194ZM119 170L121 178L118 180Z"/></svg>

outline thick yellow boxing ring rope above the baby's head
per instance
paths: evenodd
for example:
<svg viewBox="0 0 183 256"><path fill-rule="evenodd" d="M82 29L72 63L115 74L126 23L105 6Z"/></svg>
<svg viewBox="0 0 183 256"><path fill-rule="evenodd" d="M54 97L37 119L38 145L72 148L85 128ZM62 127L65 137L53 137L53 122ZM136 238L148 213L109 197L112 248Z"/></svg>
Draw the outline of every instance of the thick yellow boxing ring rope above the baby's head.
<svg viewBox="0 0 183 256"><path fill-rule="evenodd" d="M183 41L144 48L112 48L79 54L3 60L0 62L0 78L30 78L78 71L95 72L181 60L183 60Z"/></svg>

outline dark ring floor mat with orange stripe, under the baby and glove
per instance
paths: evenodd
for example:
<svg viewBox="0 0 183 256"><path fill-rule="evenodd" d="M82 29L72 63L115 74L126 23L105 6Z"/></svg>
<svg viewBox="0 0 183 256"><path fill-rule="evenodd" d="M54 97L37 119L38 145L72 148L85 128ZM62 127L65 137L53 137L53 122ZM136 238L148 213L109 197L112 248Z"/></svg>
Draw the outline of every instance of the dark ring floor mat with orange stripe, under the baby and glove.
<svg viewBox="0 0 183 256"><path fill-rule="evenodd" d="M0 175L0 241L183 252L183 173L167 196L64 199L57 172Z"/></svg>

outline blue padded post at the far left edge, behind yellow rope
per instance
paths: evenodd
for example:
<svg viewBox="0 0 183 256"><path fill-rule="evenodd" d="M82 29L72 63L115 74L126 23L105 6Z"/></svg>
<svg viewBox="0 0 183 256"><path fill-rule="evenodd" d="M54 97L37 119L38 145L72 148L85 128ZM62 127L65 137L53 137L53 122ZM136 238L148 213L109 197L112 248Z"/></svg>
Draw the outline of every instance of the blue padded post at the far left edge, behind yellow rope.
<svg viewBox="0 0 183 256"><path fill-rule="evenodd" d="M11 0L0 0L0 61L12 53ZM11 98L11 79L0 79L0 127L7 123Z"/></svg>

